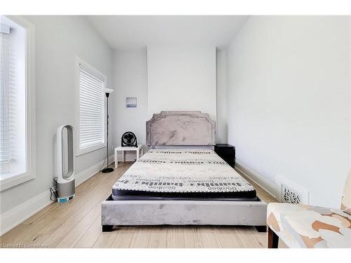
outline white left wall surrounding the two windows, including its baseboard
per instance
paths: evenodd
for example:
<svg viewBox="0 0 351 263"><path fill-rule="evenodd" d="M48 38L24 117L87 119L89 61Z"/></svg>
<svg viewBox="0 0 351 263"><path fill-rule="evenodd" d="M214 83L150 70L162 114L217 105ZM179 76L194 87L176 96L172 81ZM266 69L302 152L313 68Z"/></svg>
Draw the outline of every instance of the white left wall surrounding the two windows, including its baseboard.
<svg viewBox="0 0 351 263"><path fill-rule="evenodd" d="M100 39L86 18L79 16L27 16L35 26L37 175L1 191L1 214L47 191L53 183L56 128L75 119L74 59L80 58L107 76L113 86L112 50ZM76 173L105 156L105 149L76 158ZM48 201L49 196L47 196Z"/></svg>

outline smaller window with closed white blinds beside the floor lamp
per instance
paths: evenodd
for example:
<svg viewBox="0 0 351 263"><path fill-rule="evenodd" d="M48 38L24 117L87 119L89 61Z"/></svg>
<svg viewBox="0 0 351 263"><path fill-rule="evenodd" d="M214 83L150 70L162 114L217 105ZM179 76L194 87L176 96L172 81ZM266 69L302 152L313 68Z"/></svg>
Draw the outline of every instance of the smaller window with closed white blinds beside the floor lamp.
<svg viewBox="0 0 351 263"><path fill-rule="evenodd" d="M77 58L79 86L79 117L77 155L105 147L106 76Z"/></svg>

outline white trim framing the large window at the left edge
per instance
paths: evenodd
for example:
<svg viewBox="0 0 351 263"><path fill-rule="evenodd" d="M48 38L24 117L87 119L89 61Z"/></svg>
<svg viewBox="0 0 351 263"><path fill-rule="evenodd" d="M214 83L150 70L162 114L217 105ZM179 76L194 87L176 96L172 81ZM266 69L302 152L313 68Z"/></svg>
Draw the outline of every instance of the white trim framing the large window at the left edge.
<svg viewBox="0 0 351 263"><path fill-rule="evenodd" d="M25 100L26 100L26 172L0 180L0 191L4 191L36 177L36 133L35 133L35 28L20 15L5 15L26 29L25 50Z"/></svg>

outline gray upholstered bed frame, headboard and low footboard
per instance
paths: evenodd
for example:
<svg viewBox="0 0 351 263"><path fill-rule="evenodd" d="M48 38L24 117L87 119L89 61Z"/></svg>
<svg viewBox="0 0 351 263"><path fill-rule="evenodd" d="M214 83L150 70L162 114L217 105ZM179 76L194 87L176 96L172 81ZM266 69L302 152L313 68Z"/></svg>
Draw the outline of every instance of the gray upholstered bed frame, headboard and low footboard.
<svg viewBox="0 0 351 263"><path fill-rule="evenodd" d="M161 112L146 122L148 147L212 147L216 123L201 112ZM114 201L101 203L102 231L114 225L247 225L265 231L263 201Z"/></svg>

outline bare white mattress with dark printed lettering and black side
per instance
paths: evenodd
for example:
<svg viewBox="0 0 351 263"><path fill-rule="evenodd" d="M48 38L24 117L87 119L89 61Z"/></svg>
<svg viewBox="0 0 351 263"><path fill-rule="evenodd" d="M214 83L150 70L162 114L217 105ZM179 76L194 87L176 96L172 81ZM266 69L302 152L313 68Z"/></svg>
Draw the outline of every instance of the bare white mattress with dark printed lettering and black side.
<svg viewBox="0 0 351 263"><path fill-rule="evenodd" d="M114 200L253 201L256 190L209 149L151 149L112 187Z"/></svg>

